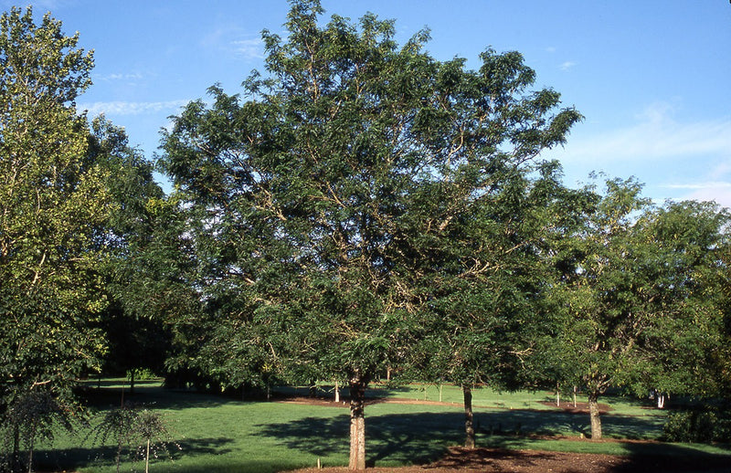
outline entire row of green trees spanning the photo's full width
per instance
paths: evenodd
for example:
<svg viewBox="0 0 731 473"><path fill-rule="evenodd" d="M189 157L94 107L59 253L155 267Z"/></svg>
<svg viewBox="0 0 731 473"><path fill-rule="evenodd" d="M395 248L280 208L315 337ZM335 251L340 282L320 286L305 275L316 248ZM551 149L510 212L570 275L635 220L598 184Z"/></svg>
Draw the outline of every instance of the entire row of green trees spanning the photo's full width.
<svg viewBox="0 0 731 473"><path fill-rule="evenodd" d="M170 195L75 109L78 37L2 16L0 414L41 391L68 405L105 362L332 380L365 468L365 389L387 371L460 384L468 446L474 384L581 386L594 438L609 387L722 392L725 210L657 207L633 180L567 188L541 152L581 116L530 89L518 53L473 70L431 58L428 31L399 46L391 21L322 15L292 1L287 37L263 34L266 74L174 118ZM5 426L17 464L22 423Z"/></svg>

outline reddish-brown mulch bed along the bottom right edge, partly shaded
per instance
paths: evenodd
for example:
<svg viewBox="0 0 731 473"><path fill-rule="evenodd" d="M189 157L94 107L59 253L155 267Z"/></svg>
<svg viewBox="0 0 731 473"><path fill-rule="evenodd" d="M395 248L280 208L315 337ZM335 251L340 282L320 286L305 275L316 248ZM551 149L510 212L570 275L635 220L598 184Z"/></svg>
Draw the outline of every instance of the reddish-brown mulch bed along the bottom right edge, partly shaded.
<svg viewBox="0 0 731 473"><path fill-rule="evenodd" d="M346 473L348 468L305 468L292 473ZM424 466L368 468L366 473L683 473L706 471L728 473L731 459L714 458L698 465L697 458L618 457L588 453L547 452L540 450L506 450L452 447L440 460Z"/></svg>

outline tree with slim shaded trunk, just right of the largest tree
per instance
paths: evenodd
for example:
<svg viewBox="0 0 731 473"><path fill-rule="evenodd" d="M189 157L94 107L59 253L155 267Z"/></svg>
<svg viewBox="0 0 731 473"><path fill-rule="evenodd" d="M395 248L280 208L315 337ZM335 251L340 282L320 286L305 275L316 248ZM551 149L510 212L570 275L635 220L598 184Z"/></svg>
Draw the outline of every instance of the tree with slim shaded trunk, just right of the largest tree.
<svg viewBox="0 0 731 473"><path fill-rule="evenodd" d="M545 254L576 197L560 184L556 163L504 159L508 171L482 173L492 180L489 191L420 258L431 280L424 284L425 334L411 350L419 358L414 367L422 379L462 386L466 447L474 447L471 386L533 385L525 361L552 321Z"/></svg>

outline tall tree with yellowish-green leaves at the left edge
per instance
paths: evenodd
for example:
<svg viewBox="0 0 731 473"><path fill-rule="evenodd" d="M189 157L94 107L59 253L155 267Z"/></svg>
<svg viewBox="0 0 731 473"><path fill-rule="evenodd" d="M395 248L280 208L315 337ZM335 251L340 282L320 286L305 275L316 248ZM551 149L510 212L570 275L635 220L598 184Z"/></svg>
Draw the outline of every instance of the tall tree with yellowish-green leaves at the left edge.
<svg viewBox="0 0 731 473"><path fill-rule="evenodd" d="M24 442L16 405L38 393L59 404L98 363L92 329L104 308L99 268L111 201L90 163L86 117L92 53L61 24L13 8L0 17L0 426L10 468Z"/></svg>

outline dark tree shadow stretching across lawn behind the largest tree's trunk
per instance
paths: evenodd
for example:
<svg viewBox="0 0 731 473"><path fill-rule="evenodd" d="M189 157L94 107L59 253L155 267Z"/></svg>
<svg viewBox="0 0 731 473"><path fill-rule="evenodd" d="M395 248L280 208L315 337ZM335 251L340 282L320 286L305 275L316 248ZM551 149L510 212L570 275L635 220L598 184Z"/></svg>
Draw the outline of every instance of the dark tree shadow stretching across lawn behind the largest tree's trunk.
<svg viewBox="0 0 731 473"><path fill-rule="evenodd" d="M481 411L475 415L478 424L478 443L500 444L502 439L524 438L529 434L585 433L586 419L580 415L545 411ZM624 436L646 434L656 428L647 419L618 416L605 418L606 430L613 421L620 422L617 430ZM464 417L461 411L441 413L411 413L367 415L365 418L366 451L371 466L388 464L432 462L445 453L449 446L464 440ZM299 449L318 457L347 455L349 416L307 417L288 424L258 426L260 436L277 438L289 448ZM489 440L486 438L489 436ZM507 442L506 442L507 443Z"/></svg>

